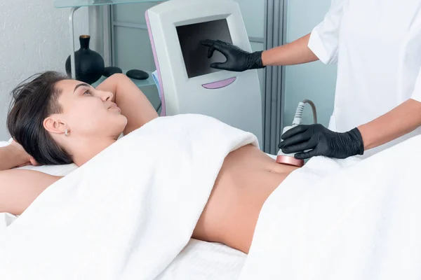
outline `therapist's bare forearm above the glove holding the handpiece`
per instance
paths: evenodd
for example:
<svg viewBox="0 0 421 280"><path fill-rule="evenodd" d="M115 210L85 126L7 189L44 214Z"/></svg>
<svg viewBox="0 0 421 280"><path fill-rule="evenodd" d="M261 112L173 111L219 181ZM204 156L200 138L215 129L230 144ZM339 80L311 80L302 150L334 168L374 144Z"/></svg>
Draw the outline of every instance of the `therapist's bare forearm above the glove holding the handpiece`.
<svg viewBox="0 0 421 280"><path fill-rule="evenodd" d="M364 150L375 148L421 126L421 102L409 99L385 115L358 127Z"/></svg>

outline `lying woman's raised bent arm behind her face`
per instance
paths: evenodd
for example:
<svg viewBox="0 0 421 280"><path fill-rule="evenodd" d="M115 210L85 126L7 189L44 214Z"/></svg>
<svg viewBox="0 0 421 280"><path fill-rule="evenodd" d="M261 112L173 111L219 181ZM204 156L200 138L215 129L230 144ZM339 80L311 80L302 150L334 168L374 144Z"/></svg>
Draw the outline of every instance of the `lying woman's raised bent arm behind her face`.
<svg viewBox="0 0 421 280"><path fill-rule="evenodd" d="M123 74L114 74L102 82L97 90L109 91L114 94L114 100L126 116L128 123L123 134L138 129L145 123L158 118L154 106L149 102L142 90L130 78Z"/></svg>

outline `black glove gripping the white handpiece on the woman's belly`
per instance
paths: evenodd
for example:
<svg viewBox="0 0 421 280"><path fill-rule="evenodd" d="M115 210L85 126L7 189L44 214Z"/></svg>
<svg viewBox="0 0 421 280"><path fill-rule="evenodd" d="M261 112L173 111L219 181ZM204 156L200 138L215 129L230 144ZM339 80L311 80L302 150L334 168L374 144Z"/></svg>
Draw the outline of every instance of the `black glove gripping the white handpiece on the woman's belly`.
<svg viewBox="0 0 421 280"><path fill-rule="evenodd" d="M295 158L305 160L316 155L328 158L348 158L363 155L363 138L358 128L339 133L328 130L323 125L298 125L291 128L281 138L278 145L283 153L296 153ZM310 150L308 152L303 152ZM302 152L302 153L297 153Z"/></svg>

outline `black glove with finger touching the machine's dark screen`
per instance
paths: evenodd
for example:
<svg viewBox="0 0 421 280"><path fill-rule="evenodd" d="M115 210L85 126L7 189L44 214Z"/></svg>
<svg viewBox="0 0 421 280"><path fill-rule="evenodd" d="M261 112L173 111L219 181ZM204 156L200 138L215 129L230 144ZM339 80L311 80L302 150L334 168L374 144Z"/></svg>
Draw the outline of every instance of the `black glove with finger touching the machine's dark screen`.
<svg viewBox="0 0 421 280"><path fill-rule="evenodd" d="M235 45L219 40L205 40L201 41L201 44L209 47L208 58L213 56L215 50L218 50L227 58L226 62L210 64L210 67L212 68L242 72L248 69L260 69L265 67L262 63L262 51L252 53L246 52Z"/></svg>

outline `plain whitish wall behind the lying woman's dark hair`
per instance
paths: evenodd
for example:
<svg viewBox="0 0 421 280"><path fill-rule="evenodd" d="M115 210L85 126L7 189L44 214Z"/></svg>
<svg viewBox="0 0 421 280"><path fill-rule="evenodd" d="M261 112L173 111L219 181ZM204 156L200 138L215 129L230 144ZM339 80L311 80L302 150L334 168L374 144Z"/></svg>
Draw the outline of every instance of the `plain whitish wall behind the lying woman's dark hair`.
<svg viewBox="0 0 421 280"><path fill-rule="evenodd" d="M75 13L76 49L88 32L87 8ZM0 141L8 139L6 115L10 92L22 80L46 70L65 71L71 52L69 8L53 0L0 1Z"/></svg>

